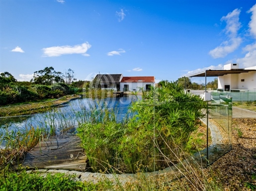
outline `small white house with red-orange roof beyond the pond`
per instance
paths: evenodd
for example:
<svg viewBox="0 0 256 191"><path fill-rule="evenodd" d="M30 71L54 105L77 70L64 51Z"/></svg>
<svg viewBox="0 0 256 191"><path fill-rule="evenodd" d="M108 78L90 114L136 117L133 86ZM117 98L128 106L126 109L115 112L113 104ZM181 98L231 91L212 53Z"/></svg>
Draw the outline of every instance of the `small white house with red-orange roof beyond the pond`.
<svg viewBox="0 0 256 191"><path fill-rule="evenodd" d="M154 76L123 77L120 83L120 91L123 92L138 92L141 89L147 91L150 87L155 87Z"/></svg>

